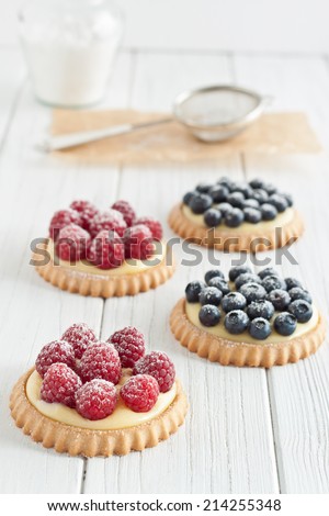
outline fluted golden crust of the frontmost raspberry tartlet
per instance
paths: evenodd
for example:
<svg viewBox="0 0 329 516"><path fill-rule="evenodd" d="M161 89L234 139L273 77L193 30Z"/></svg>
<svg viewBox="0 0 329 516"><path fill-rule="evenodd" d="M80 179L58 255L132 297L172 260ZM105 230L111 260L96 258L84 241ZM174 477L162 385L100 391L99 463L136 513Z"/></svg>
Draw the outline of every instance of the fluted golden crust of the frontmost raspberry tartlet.
<svg viewBox="0 0 329 516"><path fill-rule="evenodd" d="M45 448L55 448L70 456L110 457L124 456L133 450L157 446L169 438L183 424L188 412L188 400L181 383L177 380L177 396L171 405L158 417L129 428L118 430L90 430L66 425L39 413L29 401L25 385L32 368L14 385L10 408L19 428L35 442Z"/></svg>

